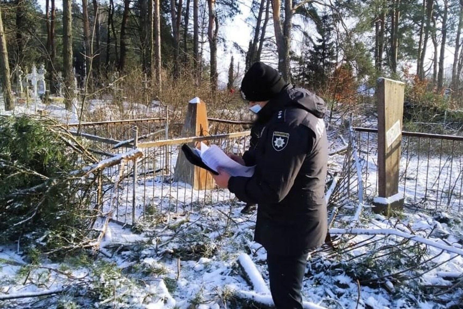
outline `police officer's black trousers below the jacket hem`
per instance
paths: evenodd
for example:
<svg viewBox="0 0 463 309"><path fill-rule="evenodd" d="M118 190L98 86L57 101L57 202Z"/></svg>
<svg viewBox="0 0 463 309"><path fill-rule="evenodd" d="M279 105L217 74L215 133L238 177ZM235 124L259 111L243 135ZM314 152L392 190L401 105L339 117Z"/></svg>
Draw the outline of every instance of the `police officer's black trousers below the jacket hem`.
<svg viewBox="0 0 463 309"><path fill-rule="evenodd" d="M267 252L270 291L277 309L302 309L302 279L306 271L307 252L294 256Z"/></svg>

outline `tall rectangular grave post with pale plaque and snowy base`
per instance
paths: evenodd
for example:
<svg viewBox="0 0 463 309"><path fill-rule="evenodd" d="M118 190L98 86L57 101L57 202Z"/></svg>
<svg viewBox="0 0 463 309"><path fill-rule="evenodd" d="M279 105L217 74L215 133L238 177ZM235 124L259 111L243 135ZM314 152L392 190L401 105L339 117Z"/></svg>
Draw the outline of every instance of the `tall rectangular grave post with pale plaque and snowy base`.
<svg viewBox="0 0 463 309"><path fill-rule="evenodd" d="M402 208L399 193L400 144L404 106L403 82L378 78L378 197L373 201L375 213Z"/></svg>

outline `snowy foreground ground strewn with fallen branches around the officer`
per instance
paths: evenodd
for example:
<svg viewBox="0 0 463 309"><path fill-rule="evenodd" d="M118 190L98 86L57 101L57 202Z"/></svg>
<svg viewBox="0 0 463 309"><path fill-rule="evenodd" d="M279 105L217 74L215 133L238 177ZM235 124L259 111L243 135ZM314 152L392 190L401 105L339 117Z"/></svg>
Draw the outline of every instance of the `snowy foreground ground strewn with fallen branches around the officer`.
<svg viewBox="0 0 463 309"><path fill-rule="evenodd" d="M347 141L339 126L330 127L330 153ZM131 230L110 222L95 254L72 252L56 260L22 244L0 246L0 308L256 308L244 300L250 298L271 303L266 294L266 252L252 240L256 213L241 214L244 203L227 190L197 191L174 182L168 170L174 170L177 156L173 148L169 169L139 177L137 224ZM330 156L330 172L339 171L343 160L342 153ZM371 190L375 158L370 155L368 160ZM409 164L416 169L413 158ZM434 165L431 174L437 173ZM162 167L163 160L158 159L142 164L139 172ZM422 177L412 172L409 177L417 179L417 191L424 194ZM113 219L132 223L131 195L131 180L125 178ZM411 201L412 192L405 195ZM418 210L406 206L385 218L373 214L369 202L359 222L335 220L333 228L393 228L462 249L463 216L455 211L459 205ZM99 220L95 228L102 225ZM325 245L309 256L302 289L306 308L436 309L458 308L463 302L461 255L394 235L333 234L332 240L334 248ZM246 281L243 269L251 270L253 284ZM384 279L377 280L380 277ZM1 300L38 292L55 294Z"/></svg>

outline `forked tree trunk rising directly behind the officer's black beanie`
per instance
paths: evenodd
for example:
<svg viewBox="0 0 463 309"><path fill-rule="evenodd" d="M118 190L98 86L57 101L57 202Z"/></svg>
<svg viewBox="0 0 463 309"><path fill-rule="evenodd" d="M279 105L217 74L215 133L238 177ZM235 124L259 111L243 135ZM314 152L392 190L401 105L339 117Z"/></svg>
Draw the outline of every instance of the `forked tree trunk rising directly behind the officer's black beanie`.
<svg viewBox="0 0 463 309"><path fill-rule="evenodd" d="M287 82L291 82L289 52L291 50L291 20L293 19L293 1L285 0L285 20L280 18L281 0L273 0L273 24L278 50L278 69Z"/></svg>

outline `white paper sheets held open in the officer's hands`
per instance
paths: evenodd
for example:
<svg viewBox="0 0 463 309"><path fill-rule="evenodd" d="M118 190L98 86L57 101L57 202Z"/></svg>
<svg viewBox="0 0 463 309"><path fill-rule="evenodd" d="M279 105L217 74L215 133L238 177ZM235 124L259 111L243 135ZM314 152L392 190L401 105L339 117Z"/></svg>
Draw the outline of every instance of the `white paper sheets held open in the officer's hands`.
<svg viewBox="0 0 463 309"><path fill-rule="evenodd" d="M201 159L211 169L225 170L231 176L252 177L254 166L244 166L228 157L217 145L208 147L201 143Z"/></svg>

